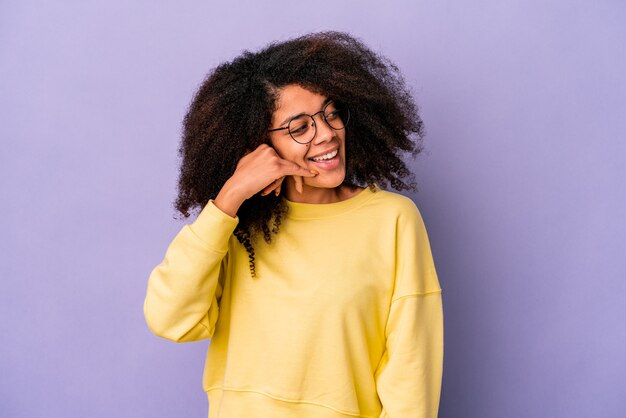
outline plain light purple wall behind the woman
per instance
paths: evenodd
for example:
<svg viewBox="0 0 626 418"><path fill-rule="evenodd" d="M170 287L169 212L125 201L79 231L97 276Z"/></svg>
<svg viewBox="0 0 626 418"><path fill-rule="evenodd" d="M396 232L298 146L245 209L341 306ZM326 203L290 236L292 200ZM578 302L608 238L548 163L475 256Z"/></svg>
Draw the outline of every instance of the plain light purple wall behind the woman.
<svg viewBox="0 0 626 418"><path fill-rule="evenodd" d="M623 1L0 5L0 416L203 417L207 342L150 334L181 120L243 49L346 30L395 61L444 289L442 418L624 417Z"/></svg>

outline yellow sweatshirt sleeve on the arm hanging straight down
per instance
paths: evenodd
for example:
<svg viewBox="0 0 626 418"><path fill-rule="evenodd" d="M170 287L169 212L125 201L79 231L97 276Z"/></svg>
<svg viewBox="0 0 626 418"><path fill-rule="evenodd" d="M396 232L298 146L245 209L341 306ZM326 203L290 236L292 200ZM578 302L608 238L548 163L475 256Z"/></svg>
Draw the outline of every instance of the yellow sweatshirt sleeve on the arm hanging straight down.
<svg viewBox="0 0 626 418"><path fill-rule="evenodd" d="M412 203L412 202L411 202ZM419 211L400 216L386 347L376 371L379 418L436 418L443 373L443 308Z"/></svg>

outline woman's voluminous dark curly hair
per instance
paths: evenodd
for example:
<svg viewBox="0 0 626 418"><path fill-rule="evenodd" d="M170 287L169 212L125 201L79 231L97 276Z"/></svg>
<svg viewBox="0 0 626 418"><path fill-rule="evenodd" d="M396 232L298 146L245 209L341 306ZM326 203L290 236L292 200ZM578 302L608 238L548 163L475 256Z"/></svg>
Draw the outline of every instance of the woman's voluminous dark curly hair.
<svg viewBox="0 0 626 418"><path fill-rule="evenodd" d="M398 68L349 34L318 32L244 51L204 79L183 121L174 204L183 217L216 198L246 152L269 143L280 89L290 84L350 108L344 184L415 189L402 156L422 151L424 127ZM254 240L262 235L270 243L286 211L273 193L257 194L239 208L234 234L248 252L253 277Z"/></svg>

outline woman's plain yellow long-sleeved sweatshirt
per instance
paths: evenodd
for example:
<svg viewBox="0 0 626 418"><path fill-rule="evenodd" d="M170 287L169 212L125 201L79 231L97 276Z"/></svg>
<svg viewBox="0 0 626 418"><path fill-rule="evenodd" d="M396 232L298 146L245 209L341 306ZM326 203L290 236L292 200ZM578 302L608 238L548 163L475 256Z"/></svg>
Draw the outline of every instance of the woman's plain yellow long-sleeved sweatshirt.
<svg viewBox="0 0 626 418"><path fill-rule="evenodd" d="M258 277L212 201L150 275L150 329L211 338L209 418L436 417L441 288L415 204L377 186L287 204L272 243L255 242Z"/></svg>

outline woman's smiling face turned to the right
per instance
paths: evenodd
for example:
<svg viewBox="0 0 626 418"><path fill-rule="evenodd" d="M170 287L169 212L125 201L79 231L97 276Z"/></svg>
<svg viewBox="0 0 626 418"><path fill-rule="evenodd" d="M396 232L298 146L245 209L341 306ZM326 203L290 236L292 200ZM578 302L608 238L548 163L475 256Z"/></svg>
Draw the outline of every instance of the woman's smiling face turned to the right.
<svg viewBox="0 0 626 418"><path fill-rule="evenodd" d="M278 107L272 116L270 128L286 127L291 118L302 113L313 115L320 112L328 102L327 97L298 85L285 86L279 93ZM331 102L325 108L326 114L332 112L332 106ZM308 144L294 141L287 129L271 132L270 141L281 158L319 173L315 177L304 177L303 189L311 191L311 188L336 188L343 183L346 175L346 130L345 128L341 130L332 129L324 121L321 113L315 115L314 120L317 133ZM331 120L329 119L329 121ZM296 137L296 139L298 138ZM293 187L293 179L287 178L285 182L287 187Z"/></svg>

